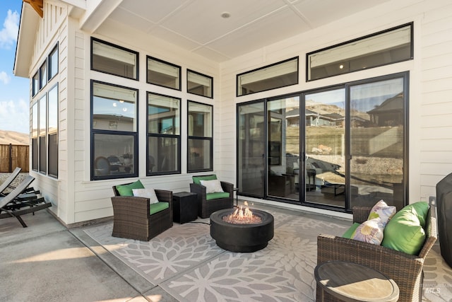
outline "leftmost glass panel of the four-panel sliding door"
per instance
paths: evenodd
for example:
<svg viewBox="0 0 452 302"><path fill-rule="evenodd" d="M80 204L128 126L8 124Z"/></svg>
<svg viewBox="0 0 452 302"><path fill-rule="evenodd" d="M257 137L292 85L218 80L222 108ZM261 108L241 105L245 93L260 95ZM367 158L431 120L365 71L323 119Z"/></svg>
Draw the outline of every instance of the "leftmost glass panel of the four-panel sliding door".
<svg viewBox="0 0 452 302"><path fill-rule="evenodd" d="M239 192L263 197L266 153L264 103L239 105L238 112L237 183Z"/></svg>

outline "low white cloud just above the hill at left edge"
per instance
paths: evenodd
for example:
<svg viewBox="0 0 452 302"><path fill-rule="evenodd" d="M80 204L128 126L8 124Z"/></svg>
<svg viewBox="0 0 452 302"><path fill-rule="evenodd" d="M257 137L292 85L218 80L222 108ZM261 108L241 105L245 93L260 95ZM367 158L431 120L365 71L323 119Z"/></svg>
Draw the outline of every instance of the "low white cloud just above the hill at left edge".
<svg viewBox="0 0 452 302"><path fill-rule="evenodd" d="M23 99L0 101L0 129L28 133L30 108Z"/></svg>

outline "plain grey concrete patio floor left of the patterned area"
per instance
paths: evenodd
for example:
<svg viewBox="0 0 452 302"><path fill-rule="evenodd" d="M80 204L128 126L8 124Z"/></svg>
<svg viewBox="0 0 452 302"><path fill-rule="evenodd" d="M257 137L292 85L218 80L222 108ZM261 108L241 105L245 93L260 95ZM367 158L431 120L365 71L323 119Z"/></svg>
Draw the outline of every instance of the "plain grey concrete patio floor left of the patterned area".
<svg viewBox="0 0 452 302"><path fill-rule="evenodd" d="M1 301L177 301L47 210L0 220ZM435 246L435 248L439 248Z"/></svg>

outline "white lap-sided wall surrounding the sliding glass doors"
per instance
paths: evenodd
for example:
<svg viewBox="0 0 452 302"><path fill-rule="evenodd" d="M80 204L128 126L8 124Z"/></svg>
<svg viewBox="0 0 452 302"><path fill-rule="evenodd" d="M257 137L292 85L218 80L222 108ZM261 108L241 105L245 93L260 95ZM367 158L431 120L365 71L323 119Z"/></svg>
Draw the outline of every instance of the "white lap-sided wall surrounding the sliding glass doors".
<svg viewBox="0 0 452 302"><path fill-rule="evenodd" d="M306 54L358 37L414 22L414 57L400 62L328 79L306 82ZM299 56L299 84L237 98L236 75ZM222 105L234 115L234 104L273 95L307 91L338 83L410 71L409 201L428 201L436 183L452 173L452 4L447 0L394 0L309 33L237 57L221 65ZM233 175L236 162L236 121L222 119L220 168ZM230 152L232 150L233 152ZM229 170L227 170L229 169Z"/></svg>

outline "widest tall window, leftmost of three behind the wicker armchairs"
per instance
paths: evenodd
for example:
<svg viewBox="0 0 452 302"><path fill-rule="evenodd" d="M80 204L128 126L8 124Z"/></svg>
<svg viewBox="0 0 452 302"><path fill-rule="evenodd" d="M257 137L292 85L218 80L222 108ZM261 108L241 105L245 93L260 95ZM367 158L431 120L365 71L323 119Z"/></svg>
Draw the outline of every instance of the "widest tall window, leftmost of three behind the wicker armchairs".
<svg viewBox="0 0 452 302"><path fill-rule="evenodd" d="M138 176L138 91L91 81L91 179Z"/></svg>

